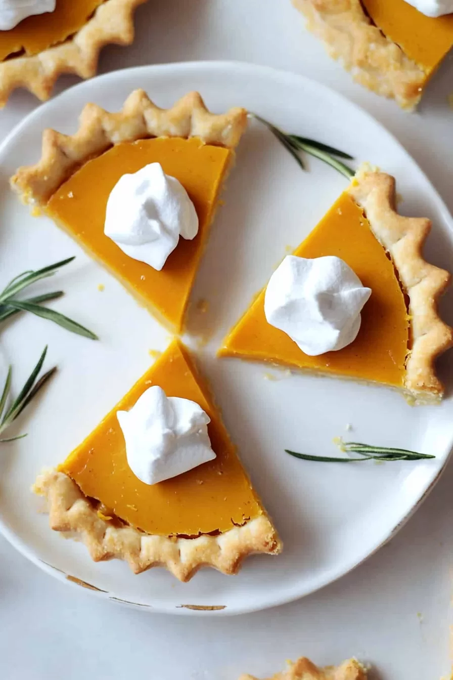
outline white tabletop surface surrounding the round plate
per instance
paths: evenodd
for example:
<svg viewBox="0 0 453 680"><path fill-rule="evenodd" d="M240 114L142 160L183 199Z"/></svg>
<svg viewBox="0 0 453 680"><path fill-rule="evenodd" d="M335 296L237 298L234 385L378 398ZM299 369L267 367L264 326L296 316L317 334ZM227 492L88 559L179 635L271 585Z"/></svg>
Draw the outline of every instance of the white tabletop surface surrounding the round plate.
<svg viewBox="0 0 453 680"><path fill-rule="evenodd" d="M151 0L137 12L137 27L132 48L103 52L101 71L236 58L310 75L395 133L453 209L451 64L437 74L420 114L408 116L353 85L281 0ZM31 95L16 93L0 113L1 134L34 106ZM235 680L305 653L320 663L355 654L376 664L382 680L437 680L449 666L452 475L450 465L410 524L353 573L293 605L240 618L157 617L98 602L39 573L1 541L0 677Z"/></svg>

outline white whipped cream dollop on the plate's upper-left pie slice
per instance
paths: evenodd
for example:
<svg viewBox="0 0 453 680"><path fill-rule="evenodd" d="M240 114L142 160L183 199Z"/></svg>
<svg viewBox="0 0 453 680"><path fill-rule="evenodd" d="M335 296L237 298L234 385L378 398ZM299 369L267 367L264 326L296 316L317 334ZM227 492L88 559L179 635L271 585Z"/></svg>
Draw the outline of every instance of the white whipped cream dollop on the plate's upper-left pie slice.
<svg viewBox="0 0 453 680"><path fill-rule="evenodd" d="M111 190L104 233L126 255L160 271L180 236L196 237L198 216L181 182L150 163L122 175Z"/></svg>

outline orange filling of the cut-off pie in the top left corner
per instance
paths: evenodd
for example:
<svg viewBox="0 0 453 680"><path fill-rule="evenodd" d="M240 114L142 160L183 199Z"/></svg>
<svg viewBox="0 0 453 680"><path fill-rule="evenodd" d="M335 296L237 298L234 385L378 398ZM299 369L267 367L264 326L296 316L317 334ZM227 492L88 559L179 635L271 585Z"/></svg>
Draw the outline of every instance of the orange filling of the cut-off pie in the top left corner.
<svg viewBox="0 0 453 680"><path fill-rule="evenodd" d="M10 31L0 31L0 61L33 56L77 33L105 0L56 0L54 12L29 16Z"/></svg>

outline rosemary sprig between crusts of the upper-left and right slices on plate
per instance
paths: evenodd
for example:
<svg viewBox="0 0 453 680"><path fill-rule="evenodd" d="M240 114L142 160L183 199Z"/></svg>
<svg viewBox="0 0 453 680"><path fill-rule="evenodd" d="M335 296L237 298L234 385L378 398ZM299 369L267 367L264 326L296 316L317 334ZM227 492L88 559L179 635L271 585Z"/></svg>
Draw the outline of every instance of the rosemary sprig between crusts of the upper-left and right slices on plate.
<svg viewBox="0 0 453 680"><path fill-rule="evenodd" d="M300 135L289 135L284 133L278 127L266 120L266 118L261 118L261 116L258 116L258 114L249 112L249 116L266 125L266 127L272 132L273 135L275 135L278 141L283 144L285 149L289 151L291 156L295 158L303 170L305 169L305 166L302 158L300 157L301 151L304 151L306 154L310 154L310 156L314 156L315 158L319 158L319 160L323 160L324 163L327 163L327 165L330 165L331 167L338 170L339 173L345 177L348 177L348 180L350 180L350 178L355 175L355 171L352 170L352 168L346 165L346 163L342 163L341 160L338 160L338 158L352 160L352 156L346 154L344 151L340 151L336 148L333 148L333 146L323 144L321 141L316 141L315 139L308 139L308 137L300 137ZM338 158L334 158L334 156L337 156Z"/></svg>

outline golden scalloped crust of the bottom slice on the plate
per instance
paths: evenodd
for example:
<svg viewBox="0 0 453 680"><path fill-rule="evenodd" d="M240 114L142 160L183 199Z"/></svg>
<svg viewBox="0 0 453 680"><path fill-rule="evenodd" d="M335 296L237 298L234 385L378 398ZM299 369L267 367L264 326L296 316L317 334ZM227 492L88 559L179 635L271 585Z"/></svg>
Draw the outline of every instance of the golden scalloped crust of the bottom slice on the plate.
<svg viewBox="0 0 453 680"><path fill-rule="evenodd" d="M266 515L234 526L219 536L203 535L196 539L151 536L130 526L112 526L101 519L77 484L64 473L43 471L33 490L47 499L52 529L77 534L94 562L125 560L135 574L153 566L166 567L180 581L189 581L200 566L235 574L248 555L276 555L282 547Z"/></svg>

